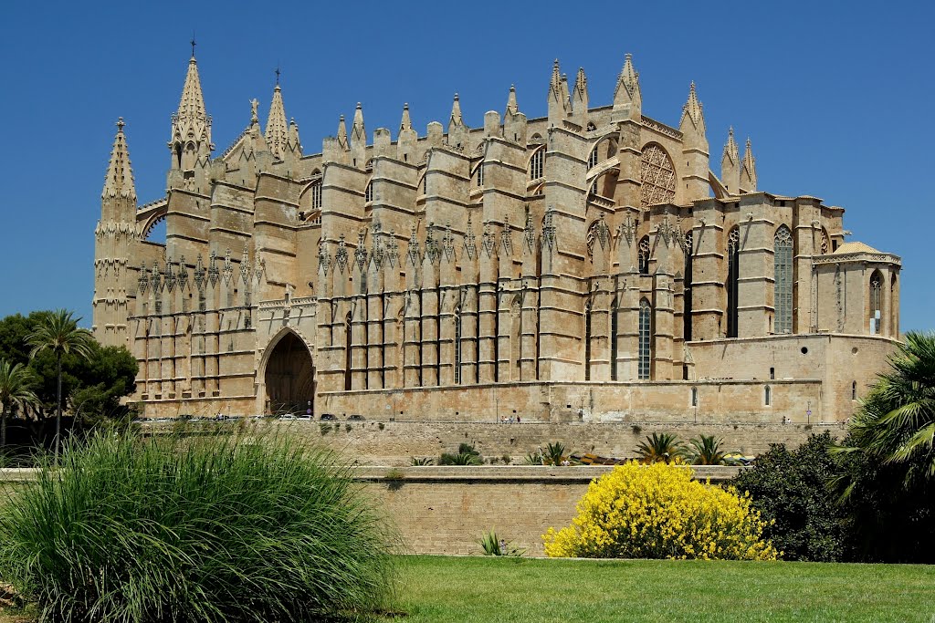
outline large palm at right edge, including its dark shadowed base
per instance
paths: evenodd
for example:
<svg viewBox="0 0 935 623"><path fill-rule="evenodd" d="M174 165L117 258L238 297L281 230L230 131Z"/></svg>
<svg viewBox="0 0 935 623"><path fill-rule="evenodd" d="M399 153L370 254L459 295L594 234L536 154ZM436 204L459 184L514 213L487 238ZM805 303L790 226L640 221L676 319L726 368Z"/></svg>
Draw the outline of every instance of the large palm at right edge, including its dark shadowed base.
<svg viewBox="0 0 935 623"><path fill-rule="evenodd" d="M833 448L864 560L935 561L935 333L906 333Z"/></svg>

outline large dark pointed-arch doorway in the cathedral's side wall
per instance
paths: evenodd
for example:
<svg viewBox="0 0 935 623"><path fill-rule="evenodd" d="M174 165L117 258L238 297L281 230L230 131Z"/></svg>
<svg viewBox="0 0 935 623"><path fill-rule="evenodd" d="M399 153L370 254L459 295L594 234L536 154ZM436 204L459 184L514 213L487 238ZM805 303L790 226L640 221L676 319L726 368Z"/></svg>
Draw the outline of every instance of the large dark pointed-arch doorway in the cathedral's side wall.
<svg viewBox="0 0 935 623"><path fill-rule="evenodd" d="M315 368L309 347L295 332L285 330L270 344L263 368L260 396L268 414L315 414ZM265 394L265 395L264 395Z"/></svg>

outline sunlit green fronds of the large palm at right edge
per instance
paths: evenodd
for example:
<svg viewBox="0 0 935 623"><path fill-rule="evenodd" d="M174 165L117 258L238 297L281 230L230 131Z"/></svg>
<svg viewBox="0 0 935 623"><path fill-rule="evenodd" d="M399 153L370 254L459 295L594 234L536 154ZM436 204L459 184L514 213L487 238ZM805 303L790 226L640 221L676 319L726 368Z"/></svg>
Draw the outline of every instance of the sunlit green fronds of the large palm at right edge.
<svg viewBox="0 0 935 623"><path fill-rule="evenodd" d="M836 451L899 467L910 488L935 482L935 333L910 332L905 339Z"/></svg>

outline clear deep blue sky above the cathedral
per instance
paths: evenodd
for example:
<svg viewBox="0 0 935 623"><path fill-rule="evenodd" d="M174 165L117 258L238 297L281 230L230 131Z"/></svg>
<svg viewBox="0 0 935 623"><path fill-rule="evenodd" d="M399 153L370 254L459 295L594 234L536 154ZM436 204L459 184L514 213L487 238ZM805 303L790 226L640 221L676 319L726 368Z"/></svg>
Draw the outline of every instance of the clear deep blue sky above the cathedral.
<svg viewBox="0 0 935 623"><path fill-rule="evenodd" d="M165 190L169 117L197 38L220 153L261 120L282 69L307 153L364 105L396 135L503 110L545 115L554 58L611 102L632 52L643 113L675 125L695 80L718 170L750 135L761 190L846 208L851 240L903 259L902 329L935 328L932 3L8 3L0 23L0 317L67 307L91 322L94 225L122 116L140 204ZM137 6L138 5L138 6ZM26 269L28 266L28 270Z"/></svg>

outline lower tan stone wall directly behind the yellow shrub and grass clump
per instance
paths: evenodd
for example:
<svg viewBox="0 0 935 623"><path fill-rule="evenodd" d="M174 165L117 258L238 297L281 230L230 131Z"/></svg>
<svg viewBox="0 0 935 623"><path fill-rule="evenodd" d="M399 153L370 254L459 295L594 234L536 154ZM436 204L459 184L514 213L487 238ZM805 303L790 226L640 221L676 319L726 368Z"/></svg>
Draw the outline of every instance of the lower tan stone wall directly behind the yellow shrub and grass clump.
<svg viewBox="0 0 935 623"><path fill-rule="evenodd" d="M477 541L495 529L528 555L542 555L542 534L567 526L592 479L611 467L357 467L353 477L395 526L398 549L415 554L480 554ZM723 481L741 468L695 468L697 478ZM6 492L32 470L0 470ZM13 487L10 487L10 483Z"/></svg>

